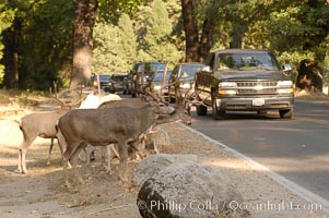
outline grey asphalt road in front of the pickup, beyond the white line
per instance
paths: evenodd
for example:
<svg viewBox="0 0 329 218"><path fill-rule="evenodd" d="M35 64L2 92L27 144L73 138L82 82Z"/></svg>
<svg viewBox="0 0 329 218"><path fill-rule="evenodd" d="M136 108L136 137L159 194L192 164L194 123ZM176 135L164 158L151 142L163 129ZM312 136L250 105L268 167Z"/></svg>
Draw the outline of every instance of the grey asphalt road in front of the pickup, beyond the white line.
<svg viewBox="0 0 329 218"><path fill-rule="evenodd" d="M192 112L195 130L329 201L329 102L295 102L295 118Z"/></svg>

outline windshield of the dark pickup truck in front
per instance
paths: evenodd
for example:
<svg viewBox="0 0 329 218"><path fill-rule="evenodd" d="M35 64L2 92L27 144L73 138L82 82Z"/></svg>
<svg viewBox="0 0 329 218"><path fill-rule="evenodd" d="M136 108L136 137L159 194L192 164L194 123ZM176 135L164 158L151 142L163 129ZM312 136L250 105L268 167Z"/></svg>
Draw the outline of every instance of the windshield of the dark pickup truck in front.
<svg viewBox="0 0 329 218"><path fill-rule="evenodd" d="M218 70L279 70L279 64L271 53L220 53L218 57Z"/></svg>

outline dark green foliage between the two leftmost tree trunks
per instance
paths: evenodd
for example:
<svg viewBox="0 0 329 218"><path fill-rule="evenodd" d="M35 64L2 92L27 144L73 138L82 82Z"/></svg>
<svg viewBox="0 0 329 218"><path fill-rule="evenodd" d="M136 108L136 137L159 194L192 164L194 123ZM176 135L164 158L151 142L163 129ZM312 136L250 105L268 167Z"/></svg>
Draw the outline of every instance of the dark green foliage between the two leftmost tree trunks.
<svg viewBox="0 0 329 218"><path fill-rule="evenodd" d="M73 4L36 1L25 12L20 78L25 88L48 89L72 57Z"/></svg>

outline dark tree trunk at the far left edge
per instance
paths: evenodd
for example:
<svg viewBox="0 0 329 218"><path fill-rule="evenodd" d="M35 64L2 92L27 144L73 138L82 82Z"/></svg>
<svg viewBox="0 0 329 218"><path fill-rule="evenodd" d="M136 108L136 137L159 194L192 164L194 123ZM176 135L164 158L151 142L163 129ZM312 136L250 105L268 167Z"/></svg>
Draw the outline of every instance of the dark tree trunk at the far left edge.
<svg viewBox="0 0 329 218"><path fill-rule="evenodd" d="M13 26L3 32L3 63L4 80L7 88L19 88L19 41L21 34L21 22L15 20Z"/></svg>

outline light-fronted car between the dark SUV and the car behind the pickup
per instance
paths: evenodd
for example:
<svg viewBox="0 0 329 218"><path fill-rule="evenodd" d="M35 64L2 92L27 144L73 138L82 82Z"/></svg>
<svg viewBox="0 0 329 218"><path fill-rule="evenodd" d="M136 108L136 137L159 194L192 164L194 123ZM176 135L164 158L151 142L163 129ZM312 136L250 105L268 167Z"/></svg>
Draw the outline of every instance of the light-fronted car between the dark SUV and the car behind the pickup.
<svg viewBox="0 0 329 218"><path fill-rule="evenodd" d="M165 82L163 82L164 72L165 71L156 71L155 72L155 75L154 75L154 77L151 82L151 92L157 94L160 92L161 87L163 85L165 85L165 87L161 90L161 95L164 96L165 100L168 100L168 86L167 86L167 84L169 82L169 77L171 77L173 71L168 70L166 72Z"/></svg>

